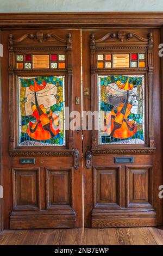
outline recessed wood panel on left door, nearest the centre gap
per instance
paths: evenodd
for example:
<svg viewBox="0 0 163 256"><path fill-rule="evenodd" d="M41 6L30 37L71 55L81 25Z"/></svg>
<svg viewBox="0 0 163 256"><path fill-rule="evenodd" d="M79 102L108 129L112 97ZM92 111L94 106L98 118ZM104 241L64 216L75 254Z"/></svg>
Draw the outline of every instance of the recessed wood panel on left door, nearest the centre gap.
<svg viewBox="0 0 163 256"><path fill-rule="evenodd" d="M47 208L57 205L70 205L70 170L46 169Z"/></svg>

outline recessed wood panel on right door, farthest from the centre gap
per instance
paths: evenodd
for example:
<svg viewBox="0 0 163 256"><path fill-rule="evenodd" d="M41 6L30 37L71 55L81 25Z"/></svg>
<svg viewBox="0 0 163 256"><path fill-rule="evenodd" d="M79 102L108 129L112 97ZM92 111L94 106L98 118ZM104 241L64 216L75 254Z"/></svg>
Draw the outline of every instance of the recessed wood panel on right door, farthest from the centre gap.
<svg viewBox="0 0 163 256"><path fill-rule="evenodd" d="M127 167L127 206L152 204L152 167Z"/></svg>

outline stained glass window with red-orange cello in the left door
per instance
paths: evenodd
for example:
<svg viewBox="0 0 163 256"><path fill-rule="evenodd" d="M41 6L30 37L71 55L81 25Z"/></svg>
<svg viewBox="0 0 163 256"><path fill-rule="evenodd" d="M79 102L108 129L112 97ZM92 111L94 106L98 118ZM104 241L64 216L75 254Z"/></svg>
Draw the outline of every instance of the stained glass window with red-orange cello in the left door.
<svg viewBox="0 0 163 256"><path fill-rule="evenodd" d="M65 145L64 76L18 77L18 145Z"/></svg>

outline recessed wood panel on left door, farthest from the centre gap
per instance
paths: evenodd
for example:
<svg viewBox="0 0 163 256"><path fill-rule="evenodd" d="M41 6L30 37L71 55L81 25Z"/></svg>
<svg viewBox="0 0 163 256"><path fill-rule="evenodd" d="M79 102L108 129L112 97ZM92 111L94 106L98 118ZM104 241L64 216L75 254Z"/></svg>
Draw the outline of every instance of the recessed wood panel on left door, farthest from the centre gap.
<svg viewBox="0 0 163 256"><path fill-rule="evenodd" d="M12 168L14 209L40 208L39 169Z"/></svg>

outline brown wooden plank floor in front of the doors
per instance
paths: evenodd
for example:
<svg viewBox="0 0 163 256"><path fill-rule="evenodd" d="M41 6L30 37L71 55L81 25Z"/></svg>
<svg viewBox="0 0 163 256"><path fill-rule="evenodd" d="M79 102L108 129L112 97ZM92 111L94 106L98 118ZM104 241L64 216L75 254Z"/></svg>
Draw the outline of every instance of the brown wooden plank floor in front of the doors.
<svg viewBox="0 0 163 256"><path fill-rule="evenodd" d="M163 228L4 230L0 245L163 245Z"/></svg>

